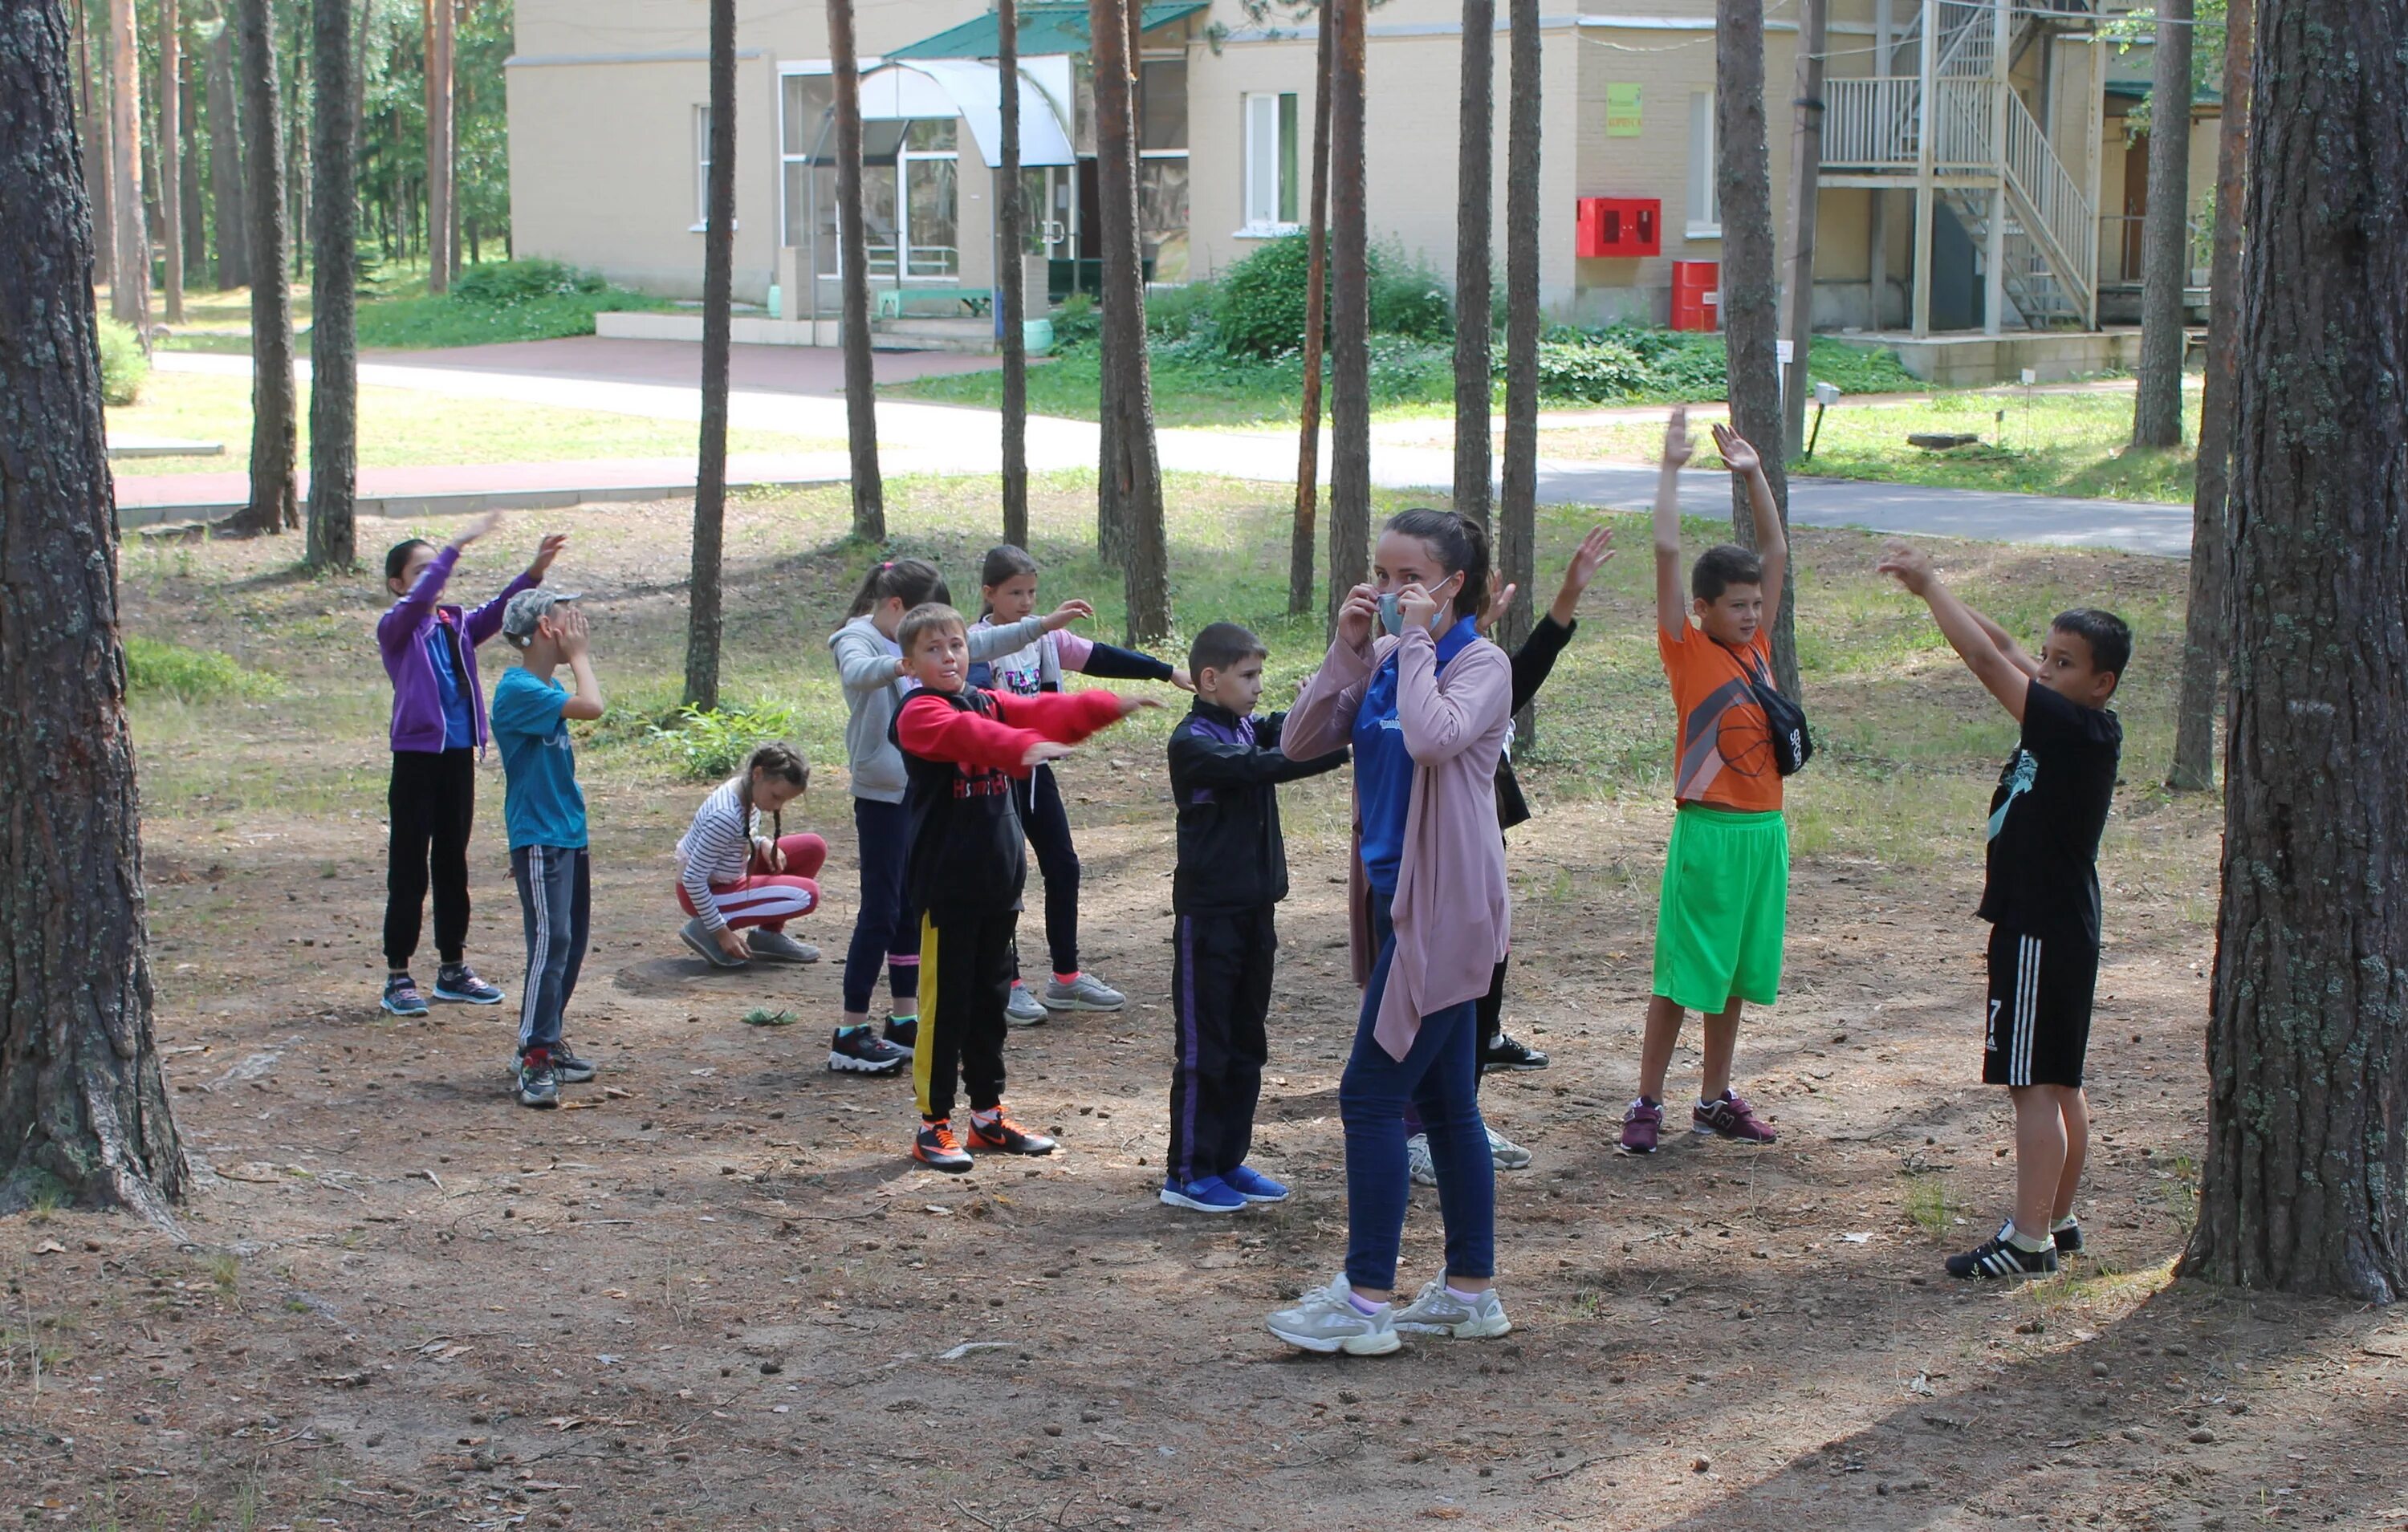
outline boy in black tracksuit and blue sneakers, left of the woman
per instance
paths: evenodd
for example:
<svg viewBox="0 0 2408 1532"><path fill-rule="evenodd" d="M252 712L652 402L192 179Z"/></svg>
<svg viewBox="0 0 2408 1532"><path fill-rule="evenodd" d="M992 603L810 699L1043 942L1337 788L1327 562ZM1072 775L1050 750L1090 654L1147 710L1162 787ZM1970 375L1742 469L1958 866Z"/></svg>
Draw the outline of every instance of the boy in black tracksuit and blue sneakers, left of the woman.
<svg viewBox="0 0 2408 1532"><path fill-rule="evenodd" d="M1197 701L1170 735L1170 797L1180 809L1180 862L1170 882L1178 949L1170 1012L1170 1171L1163 1202L1238 1212L1283 1202L1288 1188L1245 1163L1269 1057L1271 908L1288 896L1279 838L1279 783L1334 771L1346 752L1291 761L1279 749L1286 713L1255 718L1262 641L1233 621L1197 634L1187 674Z"/></svg>

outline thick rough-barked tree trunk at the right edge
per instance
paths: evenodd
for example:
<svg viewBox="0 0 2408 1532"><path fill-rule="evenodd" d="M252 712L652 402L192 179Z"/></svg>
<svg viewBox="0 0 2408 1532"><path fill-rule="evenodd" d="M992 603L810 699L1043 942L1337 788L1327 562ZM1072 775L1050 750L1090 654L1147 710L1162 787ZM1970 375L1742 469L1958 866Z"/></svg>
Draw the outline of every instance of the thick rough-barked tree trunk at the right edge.
<svg viewBox="0 0 2408 1532"><path fill-rule="evenodd" d="M2408 1291L2408 12L2261 0L2186 1277ZM2165 96L2160 96L2160 104Z"/></svg>

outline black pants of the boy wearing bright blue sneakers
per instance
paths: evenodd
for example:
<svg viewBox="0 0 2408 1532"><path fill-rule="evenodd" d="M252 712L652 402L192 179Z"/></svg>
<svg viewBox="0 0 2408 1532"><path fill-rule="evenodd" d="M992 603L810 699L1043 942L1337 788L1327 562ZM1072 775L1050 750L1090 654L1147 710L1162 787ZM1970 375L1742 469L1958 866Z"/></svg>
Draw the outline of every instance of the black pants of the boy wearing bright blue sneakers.
<svg viewBox="0 0 2408 1532"><path fill-rule="evenodd" d="M1271 906L1180 915L1170 956L1170 1175L1204 1180L1245 1163L1269 1057Z"/></svg>

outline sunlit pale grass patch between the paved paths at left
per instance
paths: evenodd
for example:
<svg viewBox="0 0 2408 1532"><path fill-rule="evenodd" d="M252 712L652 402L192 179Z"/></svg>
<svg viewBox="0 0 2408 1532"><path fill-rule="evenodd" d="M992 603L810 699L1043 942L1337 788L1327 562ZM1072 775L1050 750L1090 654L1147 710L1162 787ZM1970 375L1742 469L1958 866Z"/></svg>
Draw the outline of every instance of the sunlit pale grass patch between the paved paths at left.
<svg viewBox="0 0 2408 1532"><path fill-rule="evenodd" d="M243 467L250 450L250 381L154 371L142 400L108 412L111 436L219 441L219 458L118 458L120 475L190 475ZM672 458L694 453L696 426L597 409L551 409L513 400L460 400L414 388L359 390L359 465L566 462L580 458ZM730 453L843 450L843 441L730 429ZM301 460L308 462L308 390L301 397Z"/></svg>

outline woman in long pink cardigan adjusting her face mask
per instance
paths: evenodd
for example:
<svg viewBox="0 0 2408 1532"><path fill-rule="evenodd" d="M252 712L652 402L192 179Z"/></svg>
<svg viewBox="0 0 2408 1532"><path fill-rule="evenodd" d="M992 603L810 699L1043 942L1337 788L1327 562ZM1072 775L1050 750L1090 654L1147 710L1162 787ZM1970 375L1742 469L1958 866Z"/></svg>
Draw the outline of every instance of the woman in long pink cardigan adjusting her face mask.
<svg viewBox="0 0 2408 1532"><path fill-rule="evenodd" d="M1298 759L1353 744L1348 903L1363 1014L1339 1079L1346 1272L1274 1313L1271 1334L1353 1356L1394 1351L1399 1330L1512 1330L1495 1296L1495 1166L1474 1055L1474 1009L1510 925L1495 771L1512 662L1479 636L1488 535L1452 511L1404 511L1380 532L1373 578L1339 607L1329 658L1279 737ZM1399 1310L1389 1298L1411 1192L1409 1101L1430 1135L1447 1269Z"/></svg>

